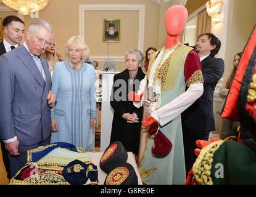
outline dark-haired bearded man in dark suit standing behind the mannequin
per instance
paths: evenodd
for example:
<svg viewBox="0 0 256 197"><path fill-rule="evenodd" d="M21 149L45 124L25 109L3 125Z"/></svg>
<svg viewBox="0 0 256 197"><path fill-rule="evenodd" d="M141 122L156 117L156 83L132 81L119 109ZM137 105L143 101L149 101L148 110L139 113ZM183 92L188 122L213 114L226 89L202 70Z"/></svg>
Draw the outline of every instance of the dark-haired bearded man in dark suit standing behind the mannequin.
<svg viewBox="0 0 256 197"><path fill-rule="evenodd" d="M195 46L200 57L204 77L204 94L181 114L186 173L196 161L196 140L208 140L209 132L215 131L213 92L224 72L224 61L215 58L221 42L212 33L201 34Z"/></svg>

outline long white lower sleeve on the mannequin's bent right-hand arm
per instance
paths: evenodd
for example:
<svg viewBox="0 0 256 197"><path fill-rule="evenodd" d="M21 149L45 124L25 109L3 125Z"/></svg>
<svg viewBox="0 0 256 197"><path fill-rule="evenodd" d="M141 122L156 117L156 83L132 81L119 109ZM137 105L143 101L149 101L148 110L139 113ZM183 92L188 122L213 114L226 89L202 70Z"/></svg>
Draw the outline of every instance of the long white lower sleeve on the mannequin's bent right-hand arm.
<svg viewBox="0 0 256 197"><path fill-rule="evenodd" d="M164 126L191 106L203 92L204 85L202 82L192 84L186 92L173 99L170 103L163 105L158 110L155 110L151 116L160 126Z"/></svg>

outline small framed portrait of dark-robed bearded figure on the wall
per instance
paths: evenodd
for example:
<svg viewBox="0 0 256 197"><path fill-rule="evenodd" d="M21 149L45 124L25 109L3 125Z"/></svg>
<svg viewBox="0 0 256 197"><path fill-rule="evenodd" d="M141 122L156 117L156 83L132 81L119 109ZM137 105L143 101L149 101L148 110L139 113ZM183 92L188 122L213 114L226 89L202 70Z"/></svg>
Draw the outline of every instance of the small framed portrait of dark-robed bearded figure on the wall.
<svg viewBox="0 0 256 197"><path fill-rule="evenodd" d="M120 42L120 19L103 19L103 42Z"/></svg>

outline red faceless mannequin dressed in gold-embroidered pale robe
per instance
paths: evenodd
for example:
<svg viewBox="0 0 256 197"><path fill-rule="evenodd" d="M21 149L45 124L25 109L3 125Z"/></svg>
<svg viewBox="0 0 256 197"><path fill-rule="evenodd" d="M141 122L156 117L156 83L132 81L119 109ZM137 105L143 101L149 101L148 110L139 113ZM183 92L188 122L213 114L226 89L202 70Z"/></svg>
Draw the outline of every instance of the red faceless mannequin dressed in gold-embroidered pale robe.
<svg viewBox="0 0 256 197"><path fill-rule="evenodd" d="M152 55L138 93L128 94L134 106L144 106L138 164L146 184L184 184L186 179L180 114L204 91L199 56L180 43L187 19L184 6L167 10L165 47ZM159 124L159 130L173 145L163 158L151 153L154 138L147 131L153 123Z"/></svg>

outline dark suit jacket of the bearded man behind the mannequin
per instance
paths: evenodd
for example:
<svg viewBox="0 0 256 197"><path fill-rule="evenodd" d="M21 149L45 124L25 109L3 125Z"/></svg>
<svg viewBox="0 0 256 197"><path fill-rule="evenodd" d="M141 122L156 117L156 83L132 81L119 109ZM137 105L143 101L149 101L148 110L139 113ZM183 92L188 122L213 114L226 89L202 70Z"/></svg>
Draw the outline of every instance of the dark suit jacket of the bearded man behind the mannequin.
<svg viewBox="0 0 256 197"><path fill-rule="evenodd" d="M204 77L204 93L191 107L181 114L181 120L188 129L215 131L213 115L213 92L224 72L221 58L208 56L201 62Z"/></svg>

